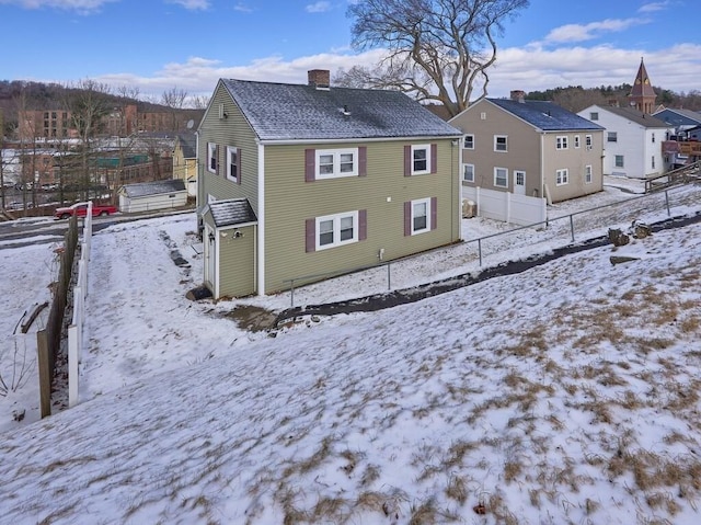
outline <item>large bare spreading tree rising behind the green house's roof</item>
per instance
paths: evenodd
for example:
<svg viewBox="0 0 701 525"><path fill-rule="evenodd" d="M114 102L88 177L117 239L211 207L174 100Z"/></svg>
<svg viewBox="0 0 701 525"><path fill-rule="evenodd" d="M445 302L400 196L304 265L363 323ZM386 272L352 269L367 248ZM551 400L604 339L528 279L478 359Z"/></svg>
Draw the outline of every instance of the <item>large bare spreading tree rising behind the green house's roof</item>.
<svg viewBox="0 0 701 525"><path fill-rule="evenodd" d="M496 60L495 37L503 22L529 0L357 0L348 5L355 19L353 45L387 48L376 68L353 68L337 82L395 88L417 100L443 103L450 115L470 104L472 91L489 84Z"/></svg>

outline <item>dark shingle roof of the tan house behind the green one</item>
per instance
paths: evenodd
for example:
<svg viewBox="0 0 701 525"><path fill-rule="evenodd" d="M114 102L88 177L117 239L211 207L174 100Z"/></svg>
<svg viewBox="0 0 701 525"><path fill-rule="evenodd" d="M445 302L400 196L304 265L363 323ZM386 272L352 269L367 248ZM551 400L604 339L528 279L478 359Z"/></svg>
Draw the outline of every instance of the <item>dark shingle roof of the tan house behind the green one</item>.
<svg viewBox="0 0 701 525"><path fill-rule="evenodd" d="M510 99L487 100L543 132L604 129L598 124L594 124L591 121L587 121L552 102L538 100L518 102Z"/></svg>

